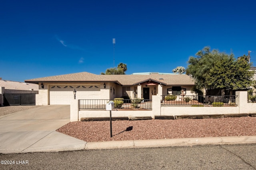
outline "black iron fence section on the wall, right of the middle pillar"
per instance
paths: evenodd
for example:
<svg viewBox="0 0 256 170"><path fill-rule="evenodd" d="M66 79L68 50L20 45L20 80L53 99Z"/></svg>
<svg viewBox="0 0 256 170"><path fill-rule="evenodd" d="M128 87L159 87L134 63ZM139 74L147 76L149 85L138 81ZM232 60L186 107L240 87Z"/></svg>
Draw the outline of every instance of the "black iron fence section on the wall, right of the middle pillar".
<svg viewBox="0 0 256 170"><path fill-rule="evenodd" d="M162 96L161 105L212 105L212 106L236 106L235 95L225 96L182 96L168 95Z"/></svg>

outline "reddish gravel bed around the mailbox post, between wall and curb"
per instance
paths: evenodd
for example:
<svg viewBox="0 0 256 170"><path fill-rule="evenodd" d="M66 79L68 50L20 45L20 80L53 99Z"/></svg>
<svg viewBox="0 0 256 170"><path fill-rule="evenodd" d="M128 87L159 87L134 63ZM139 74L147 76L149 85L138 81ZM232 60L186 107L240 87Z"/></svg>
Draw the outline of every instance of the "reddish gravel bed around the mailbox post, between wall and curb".
<svg viewBox="0 0 256 170"><path fill-rule="evenodd" d="M86 142L255 136L256 117L112 121L112 138L110 121L70 122L56 131Z"/></svg>

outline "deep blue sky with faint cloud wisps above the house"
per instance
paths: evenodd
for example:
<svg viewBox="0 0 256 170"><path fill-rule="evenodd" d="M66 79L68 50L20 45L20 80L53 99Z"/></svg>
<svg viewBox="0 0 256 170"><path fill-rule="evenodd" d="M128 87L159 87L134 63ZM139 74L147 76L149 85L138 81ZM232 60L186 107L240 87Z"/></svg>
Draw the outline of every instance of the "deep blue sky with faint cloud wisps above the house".
<svg viewBox="0 0 256 170"><path fill-rule="evenodd" d="M250 50L256 62L255 9L252 0L2 1L0 77L100 74L118 63L126 74L172 72L205 46Z"/></svg>

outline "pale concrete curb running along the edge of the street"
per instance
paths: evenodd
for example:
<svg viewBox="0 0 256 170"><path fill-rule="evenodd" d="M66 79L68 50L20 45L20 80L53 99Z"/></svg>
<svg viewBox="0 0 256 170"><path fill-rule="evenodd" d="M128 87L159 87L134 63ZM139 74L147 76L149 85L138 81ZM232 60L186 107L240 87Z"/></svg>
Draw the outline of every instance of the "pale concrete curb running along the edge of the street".
<svg viewBox="0 0 256 170"><path fill-rule="evenodd" d="M256 143L256 136L238 137L202 137L202 138L180 138L180 139L150 139L130 141L105 141L105 142L75 142L64 145L50 145L45 147L30 147L22 150L1 149L1 154L32 153L32 152L61 152L75 150L97 150L97 149L136 149L150 147L186 147L195 145L227 145L227 144L250 144Z"/></svg>

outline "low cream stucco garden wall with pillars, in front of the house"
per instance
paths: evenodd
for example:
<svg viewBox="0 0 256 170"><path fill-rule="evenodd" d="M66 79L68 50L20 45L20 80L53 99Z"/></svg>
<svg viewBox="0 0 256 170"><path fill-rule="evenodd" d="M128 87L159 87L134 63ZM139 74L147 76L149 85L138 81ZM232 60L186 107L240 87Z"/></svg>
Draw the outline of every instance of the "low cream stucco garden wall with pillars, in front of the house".
<svg viewBox="0 0 256 170"><path fill-rule="evenodd" d="M161 96L152 96L152 110L112 110L112 117L148 117L153 119L158 116L182 116L182 115L220 115L256 113L256 103L248 103L247 91L236 92L237 106L224 107L191 107L191 106L162 106ZM70 105L70 121L80 121L83 117L109 117L110 111L106 110L81 110L78 100L73 100Z"/></svg>

